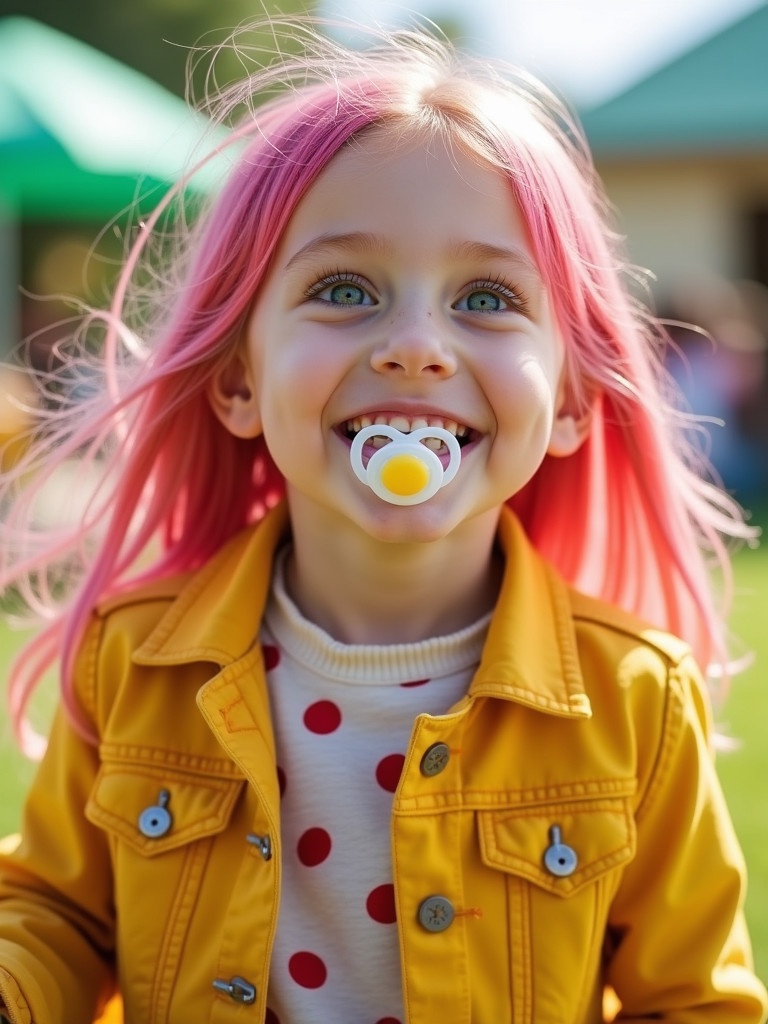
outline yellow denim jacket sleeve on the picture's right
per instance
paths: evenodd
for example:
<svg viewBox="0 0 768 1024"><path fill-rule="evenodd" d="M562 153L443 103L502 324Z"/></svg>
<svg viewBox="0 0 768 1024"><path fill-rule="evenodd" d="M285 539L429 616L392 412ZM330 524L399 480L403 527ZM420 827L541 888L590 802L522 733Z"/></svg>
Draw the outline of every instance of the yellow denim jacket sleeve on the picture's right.
<svg viewBox="0 0 768 1024"><path fill-rule="evenodd" d="M607 981L617 1020L765 1019L742 915L744 864L690 657L672 667L660 744L637 810L637 856L611 908Z"/></svg>

